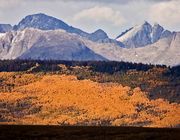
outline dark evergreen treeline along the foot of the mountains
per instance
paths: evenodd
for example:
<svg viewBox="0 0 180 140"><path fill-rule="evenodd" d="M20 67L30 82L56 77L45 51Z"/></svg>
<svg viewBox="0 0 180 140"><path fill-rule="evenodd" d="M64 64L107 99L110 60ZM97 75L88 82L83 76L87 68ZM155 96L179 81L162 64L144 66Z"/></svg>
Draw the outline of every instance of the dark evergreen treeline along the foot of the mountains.
<svg viewBox="0 0 180 140"><path fill-rule="evenodd" d="M115 72L126 72L128 70L148 71L154 67L166 68L165 65L147 65L142 63L116 62L116 61L60 61L60 60L0 60L0 71L27 71L37 66L36 72L39 71L58 71L58 64L64 64L67 67L84 66L91 67L95 72L113 74ZM176 72L176 68L172 69Z"/></svg>

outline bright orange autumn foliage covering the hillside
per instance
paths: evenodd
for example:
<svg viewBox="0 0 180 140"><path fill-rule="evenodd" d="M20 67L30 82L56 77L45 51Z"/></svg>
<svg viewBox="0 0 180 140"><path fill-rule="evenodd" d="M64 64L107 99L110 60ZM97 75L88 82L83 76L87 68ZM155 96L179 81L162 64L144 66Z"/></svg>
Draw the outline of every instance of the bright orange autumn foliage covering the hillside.
<svg viewBox="0 0 180 140"><path fill-rule="evenodd" d="M149 100L138 87L75 76L46 75L0 92L0 122L5 124L176 127L179 116L179 104Z"/></svg>

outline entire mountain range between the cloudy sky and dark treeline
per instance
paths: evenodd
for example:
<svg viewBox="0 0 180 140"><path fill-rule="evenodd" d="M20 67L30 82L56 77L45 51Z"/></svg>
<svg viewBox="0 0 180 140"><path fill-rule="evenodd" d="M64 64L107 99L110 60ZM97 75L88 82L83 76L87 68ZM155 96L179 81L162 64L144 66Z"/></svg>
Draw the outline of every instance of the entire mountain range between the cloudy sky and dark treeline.
<svg viewBox="0 0 180 140"><path fill-rule="evenodd" d="M102 30L87 33L62 20L28 15L17 25L0 24L0 59L128 61L180 64L180 32L147 21L111 39Z"/></svg>

